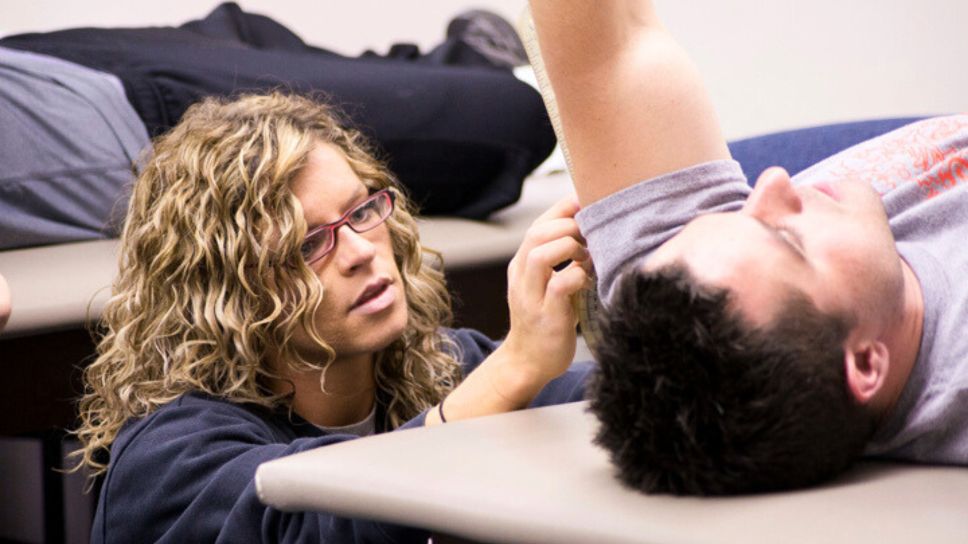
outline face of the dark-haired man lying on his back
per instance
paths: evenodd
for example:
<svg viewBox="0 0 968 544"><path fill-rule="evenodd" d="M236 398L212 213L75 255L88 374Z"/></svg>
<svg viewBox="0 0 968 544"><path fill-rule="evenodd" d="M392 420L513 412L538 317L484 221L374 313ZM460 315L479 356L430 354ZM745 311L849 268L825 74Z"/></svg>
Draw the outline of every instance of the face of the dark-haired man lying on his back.
<svg viewBox="0 0 968 544"><path fill-rule="evenodd" d="M696 218L645 267L673 262L701 283L730 289L743 316L760 326L791 288L872 334L902 300L900 257L881 197L862 182L793 187L782 168L760 176L741 211Z"/></svg>

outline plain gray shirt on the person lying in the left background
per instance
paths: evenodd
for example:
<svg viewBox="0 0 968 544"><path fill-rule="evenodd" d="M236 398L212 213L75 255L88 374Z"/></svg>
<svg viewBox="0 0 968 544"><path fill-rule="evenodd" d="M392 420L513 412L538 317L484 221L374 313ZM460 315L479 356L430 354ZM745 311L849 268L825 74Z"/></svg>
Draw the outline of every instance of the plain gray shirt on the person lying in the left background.
<svg viewBox="0 0 968 544"><path fill-rule="evenodd" d="M0 249L114 235L148 145L117 78L0 47L0 119Z"/></svg>

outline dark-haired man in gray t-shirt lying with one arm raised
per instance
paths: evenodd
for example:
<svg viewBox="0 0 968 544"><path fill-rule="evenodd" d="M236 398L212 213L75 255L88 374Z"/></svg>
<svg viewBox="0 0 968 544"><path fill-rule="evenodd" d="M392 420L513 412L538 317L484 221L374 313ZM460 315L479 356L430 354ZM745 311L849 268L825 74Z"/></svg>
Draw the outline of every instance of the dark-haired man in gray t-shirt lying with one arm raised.
<svg viewBox="0 0 968 544"><path fill-rule="evenodd" d="M606 301L591 406L647 492L968 464L968 116L749 189L640 0L531 0ZM644 181L645 180L645 181Z"/></svg>

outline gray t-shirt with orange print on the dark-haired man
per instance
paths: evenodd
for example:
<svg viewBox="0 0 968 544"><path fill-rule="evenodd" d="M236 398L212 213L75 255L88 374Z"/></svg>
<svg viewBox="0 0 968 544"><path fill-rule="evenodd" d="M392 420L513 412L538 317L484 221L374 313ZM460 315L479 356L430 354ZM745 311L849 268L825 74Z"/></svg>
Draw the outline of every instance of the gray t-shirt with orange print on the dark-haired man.
<svg viewBox="0 0 968 544"><path fill-rule="evenodd" d="M922 343L889 420L866 453L968 464L968 116L929 119L863 142L795 176L796 184L868 181L884 198L898 253L924 297ZM578 214L603 300L697 215L737 211L749 195L739 164L718 161L645 181Z"/></svg>

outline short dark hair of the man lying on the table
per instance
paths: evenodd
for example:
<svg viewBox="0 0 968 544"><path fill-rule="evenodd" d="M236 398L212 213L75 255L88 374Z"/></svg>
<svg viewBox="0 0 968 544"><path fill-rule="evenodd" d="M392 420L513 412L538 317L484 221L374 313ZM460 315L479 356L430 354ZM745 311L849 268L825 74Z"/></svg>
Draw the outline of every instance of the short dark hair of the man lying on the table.
<svg viewBox="0 0 968 544"><path fill-rule="evenodd" d="M791 288L766 330L681 265L622 274L602 316L590 407L626 485L728 495L814 484L873 431L850 395L846 317Z"/></svg>

